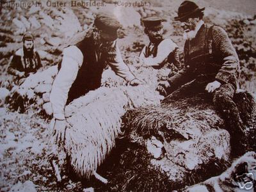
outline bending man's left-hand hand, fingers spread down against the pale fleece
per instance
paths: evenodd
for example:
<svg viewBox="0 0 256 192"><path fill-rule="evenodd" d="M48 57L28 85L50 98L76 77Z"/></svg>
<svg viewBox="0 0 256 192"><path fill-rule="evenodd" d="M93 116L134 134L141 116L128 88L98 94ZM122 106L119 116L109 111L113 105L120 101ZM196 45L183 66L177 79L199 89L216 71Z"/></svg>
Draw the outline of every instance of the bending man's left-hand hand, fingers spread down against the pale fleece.
<svg viewBox="0 0 256 192"><path fill-rule="evenodd" d="M56 144L61 145L61 143L64 143L66 127L67 127L66 120L58 120L58 119L55 120L54 127L53 127L54 129L53 136L56 137Z"/></svg>

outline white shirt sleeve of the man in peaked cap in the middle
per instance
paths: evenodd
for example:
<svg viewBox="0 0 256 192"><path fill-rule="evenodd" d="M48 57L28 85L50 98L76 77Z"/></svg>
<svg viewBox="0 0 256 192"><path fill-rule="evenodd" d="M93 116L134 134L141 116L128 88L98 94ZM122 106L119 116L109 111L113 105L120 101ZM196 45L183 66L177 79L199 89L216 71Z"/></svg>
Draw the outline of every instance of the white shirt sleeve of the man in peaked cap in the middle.
<svg viewBox="0 0 256 192"><path fill-rule="evenodd" d="M163 40L157 47L156 57L144 58L144 64L147 66L159 66L176 47L178 47L178 45L170 40L170 38Z"/></svg>

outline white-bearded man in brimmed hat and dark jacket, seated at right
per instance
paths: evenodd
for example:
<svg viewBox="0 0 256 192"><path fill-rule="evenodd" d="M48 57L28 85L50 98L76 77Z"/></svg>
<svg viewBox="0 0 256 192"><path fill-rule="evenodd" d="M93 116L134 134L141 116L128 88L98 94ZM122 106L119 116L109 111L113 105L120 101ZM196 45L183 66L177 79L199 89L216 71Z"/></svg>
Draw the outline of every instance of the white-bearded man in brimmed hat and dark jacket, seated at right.
<svg viewBox="0 0 256 192"><path fill-rule="evenodd" d="M243 124L232 100L238 86L239 58L224 29L204 24L204 9L191 1L180 4L175 20L179 20L184 29L185 68L168 81L161 82L157 90L167 94L168 99L210 93L216 109L225 119L231 152L235 155L245 149Z"/></svg>

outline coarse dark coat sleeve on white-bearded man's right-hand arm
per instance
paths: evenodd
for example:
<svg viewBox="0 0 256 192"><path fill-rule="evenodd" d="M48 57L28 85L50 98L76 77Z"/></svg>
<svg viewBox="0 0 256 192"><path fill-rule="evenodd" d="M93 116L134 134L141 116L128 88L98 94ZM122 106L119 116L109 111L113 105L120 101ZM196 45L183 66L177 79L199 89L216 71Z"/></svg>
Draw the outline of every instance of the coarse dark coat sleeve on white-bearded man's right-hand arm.
<svg viewBox="0 0 256 192"><path fill-rule="evenodd" d="M223 83L236 84L236 77L240 69L236 50L224 29L214 26L212 36L216 51L220 52L220 56L223 58L223 64L216 75L216 79Z"/></svg>

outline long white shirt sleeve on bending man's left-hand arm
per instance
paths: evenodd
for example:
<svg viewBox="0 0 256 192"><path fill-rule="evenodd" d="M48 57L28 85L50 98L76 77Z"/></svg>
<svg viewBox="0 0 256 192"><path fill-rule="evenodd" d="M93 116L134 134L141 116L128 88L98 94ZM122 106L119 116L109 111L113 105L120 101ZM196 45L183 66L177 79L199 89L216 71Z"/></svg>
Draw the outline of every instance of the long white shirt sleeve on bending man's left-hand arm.
<svg viewBox="0 0 256 192"><path fill-rule="evenodd" d="M74 83L79 67L83 63L83 54L75 46L67 47L63 51L61 68L52 84L50 102L54 118L64 120L64 108L67 102L68 91Z"/></svg>

